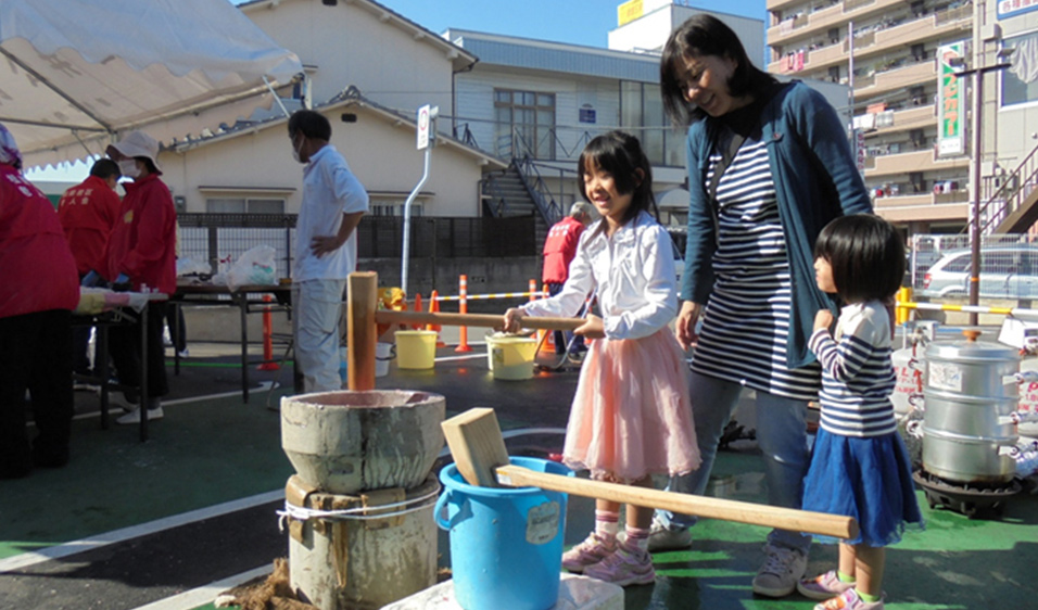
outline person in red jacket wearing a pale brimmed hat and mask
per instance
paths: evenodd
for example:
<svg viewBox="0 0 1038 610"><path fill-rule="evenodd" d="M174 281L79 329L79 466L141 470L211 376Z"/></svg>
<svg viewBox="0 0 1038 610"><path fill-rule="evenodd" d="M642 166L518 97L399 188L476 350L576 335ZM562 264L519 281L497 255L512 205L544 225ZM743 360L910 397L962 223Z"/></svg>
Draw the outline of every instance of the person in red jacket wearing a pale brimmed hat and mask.
<svg viewBox="0 0 1038 610"><path fill-rule="evenodd" d="M126 198L109 240L105 277L116 290L173 295L177 290L177 212L169 189L159 178L159 142L143 131L130 131L106 152L118 163L123 176L134 181L123 185ZM110 332L119 382L139 386L142 369L148 374L148 396L123 393L123 407L130 412L118 418L119 423L139 422L141 402L148 405L148 419L163 416L160 397L169 392L162 344L164 318L165 303L152 301L148 305L147 329L137 325L114 327ZM140 353L141 332L148 333L148 354Z"/></svg>

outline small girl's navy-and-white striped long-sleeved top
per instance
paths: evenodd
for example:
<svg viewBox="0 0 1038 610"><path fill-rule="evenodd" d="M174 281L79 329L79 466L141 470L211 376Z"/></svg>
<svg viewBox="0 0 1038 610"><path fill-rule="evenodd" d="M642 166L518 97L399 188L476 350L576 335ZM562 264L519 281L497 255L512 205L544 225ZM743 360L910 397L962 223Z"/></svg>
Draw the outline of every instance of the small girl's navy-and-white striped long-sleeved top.
<svg viewBox="0 0 1038 610"><path fill-rule="evenodd" d="M822 363L824 430L844 436L897 431L890 403L895 384L890 318L883 304L869 301L844 307L835 334L819 329L809 346Z"/></svg>

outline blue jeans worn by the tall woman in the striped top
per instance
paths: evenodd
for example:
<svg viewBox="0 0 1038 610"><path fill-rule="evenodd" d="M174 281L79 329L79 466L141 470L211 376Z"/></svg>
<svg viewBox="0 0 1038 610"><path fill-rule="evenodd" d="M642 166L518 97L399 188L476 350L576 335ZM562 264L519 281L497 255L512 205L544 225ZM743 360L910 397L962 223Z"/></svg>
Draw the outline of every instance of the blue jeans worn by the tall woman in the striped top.
<svg viewBox="0 0 1038 610"><path fill-rule="evenodd" d="M718 442L738 404L743 386L698 372L692 372L692 415L702 465L699 470L682 476L672 476L668 491L702 495L710 480ZM768 484L768 504L800 508L803 476L810 466L810 454L805 428L807 404L757 392L757 442L764 459L764 481ZM688 528L696 518L670 511L656 511L657 520L669 529ZM772 530L768 542L807 554L811 537L800 532Z"/></svg>

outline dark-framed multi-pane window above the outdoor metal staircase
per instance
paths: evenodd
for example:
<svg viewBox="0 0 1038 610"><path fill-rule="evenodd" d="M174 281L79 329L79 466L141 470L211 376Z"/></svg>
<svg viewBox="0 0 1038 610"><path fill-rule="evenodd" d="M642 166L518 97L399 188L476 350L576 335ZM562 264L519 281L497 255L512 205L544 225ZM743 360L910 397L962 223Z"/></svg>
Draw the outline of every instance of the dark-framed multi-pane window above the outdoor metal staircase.
<svg viewBox="0 0 1038 610"><path fill-rule="evenodd" d="M555 93L494 90L497 155L555 160Z"/></svg>

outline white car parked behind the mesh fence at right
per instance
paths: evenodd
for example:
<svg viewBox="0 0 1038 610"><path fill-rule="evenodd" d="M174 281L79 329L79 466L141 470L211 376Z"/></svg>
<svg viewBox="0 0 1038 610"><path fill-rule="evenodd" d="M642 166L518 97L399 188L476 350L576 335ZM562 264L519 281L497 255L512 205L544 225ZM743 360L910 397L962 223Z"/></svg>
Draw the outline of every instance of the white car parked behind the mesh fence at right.
<svg viewBox="0 0 1038 610"><path fill-rule="evenodd" d="M973 252L951 250L926 270L920 296L969 296ZM1026 244L989 246L980 251L980 296L1038 297L1038 247Z"/></svg>

